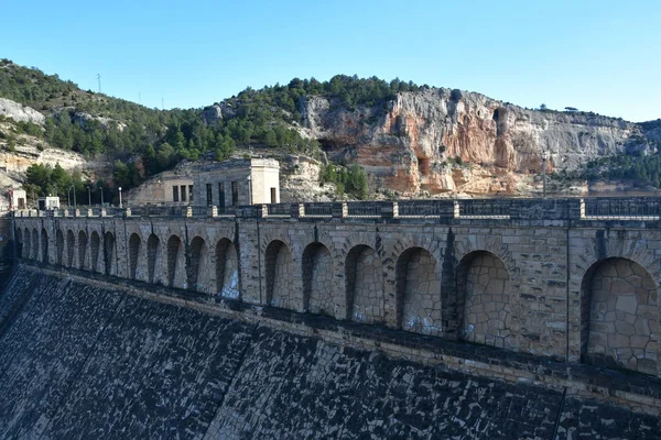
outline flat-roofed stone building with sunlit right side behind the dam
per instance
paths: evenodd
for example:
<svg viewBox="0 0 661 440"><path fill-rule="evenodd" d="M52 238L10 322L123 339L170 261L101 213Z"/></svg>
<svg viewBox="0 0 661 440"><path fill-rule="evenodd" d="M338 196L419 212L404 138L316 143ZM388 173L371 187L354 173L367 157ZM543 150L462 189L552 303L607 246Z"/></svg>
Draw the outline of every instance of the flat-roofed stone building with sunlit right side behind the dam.
<svg viewBox="0 0 661 440"><path fill-rule="evenodd" d="M280 202L280 164L245 158L195 168L194 205L219 208Z"/></svg>

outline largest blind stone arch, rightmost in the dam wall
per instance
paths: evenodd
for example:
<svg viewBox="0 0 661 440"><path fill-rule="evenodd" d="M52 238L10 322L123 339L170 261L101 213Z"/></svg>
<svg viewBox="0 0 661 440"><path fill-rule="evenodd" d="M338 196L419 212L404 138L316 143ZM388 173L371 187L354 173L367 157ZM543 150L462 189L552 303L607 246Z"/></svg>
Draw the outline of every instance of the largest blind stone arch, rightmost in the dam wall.
<svg viewBox="0 0 661 440"><path fill-rule="evenodd" d="M608 257L581 283L583 362L657 375L658 286L639 263Z"/></svg>

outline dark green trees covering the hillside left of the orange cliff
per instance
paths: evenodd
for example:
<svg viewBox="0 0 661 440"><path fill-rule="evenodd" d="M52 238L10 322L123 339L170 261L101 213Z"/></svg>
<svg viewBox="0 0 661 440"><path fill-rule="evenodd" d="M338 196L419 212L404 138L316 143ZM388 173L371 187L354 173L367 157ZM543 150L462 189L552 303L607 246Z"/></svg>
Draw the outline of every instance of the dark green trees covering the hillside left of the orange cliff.
<svg viewBox="0 0 661 440"><path fill-rule="evenodd" d="M17 133L42 138L52 146L88 157L105 156L115 164L115 169L112 179L104 184L127 189L172 168L182 160L195 161L203 155L224 160L237 146L269 147L317 156L318 143L302 138L292 129L292 124L301 122L302 98L319 95L328 98L334 106L351 109L384 103L399 91L416 91L420 88L413 82L399 79L388 82L376 77L362 79L338 75L329 81L295 78L286 86L267 86L260 90L247 88L225 101L224 108L231 111L217 121L205 121L203 109L150 109L91 90L80 90L72 81L62 80L57 75L45 75L34 67L0 61L0 97L30 106L46 116L44 129L23 124L25 127L21 125ZM0 135L7 138L13 134ZM364 198L366 184L356 183L358 174L351 169L329 173L326 182L337 184L340 193L346 190ZM33 170L29 174L28 187L42 195L52 193L54 188L41 178L44 170ZM80 188L87 185L97 184L82 183ZM58 190L62 193L61 188Z"/></svg>

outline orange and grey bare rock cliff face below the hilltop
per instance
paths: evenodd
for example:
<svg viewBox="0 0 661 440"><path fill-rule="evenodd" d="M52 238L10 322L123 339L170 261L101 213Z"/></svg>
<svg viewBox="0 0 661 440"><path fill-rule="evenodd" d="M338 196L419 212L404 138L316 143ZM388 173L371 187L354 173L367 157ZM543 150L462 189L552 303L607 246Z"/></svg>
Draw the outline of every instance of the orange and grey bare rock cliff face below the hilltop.
<svg viewBox="0 0 661 440"><path fill-rule="evenodd" d="M541 172L542 151L552 172L649 147L635 123L528 110L456 89L400 92L384 105L354 109L312 96L300 107L302 130L334 160L357 161L379 186L409 195L514 193L525 176Z"/></svg>

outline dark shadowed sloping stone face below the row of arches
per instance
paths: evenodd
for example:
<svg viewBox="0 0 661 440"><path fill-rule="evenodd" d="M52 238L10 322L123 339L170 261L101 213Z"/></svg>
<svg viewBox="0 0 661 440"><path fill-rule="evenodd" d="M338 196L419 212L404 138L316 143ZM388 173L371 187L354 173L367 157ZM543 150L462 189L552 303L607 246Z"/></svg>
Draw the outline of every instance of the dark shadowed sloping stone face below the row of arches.
<svg viewBox="0 0 661 440"><path fill-rule="evenodd" d="M19 266L0 294L0 438L659 438L562 392L335 345Z"/></svg>

